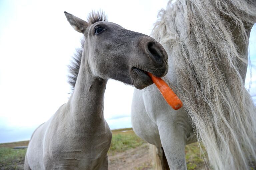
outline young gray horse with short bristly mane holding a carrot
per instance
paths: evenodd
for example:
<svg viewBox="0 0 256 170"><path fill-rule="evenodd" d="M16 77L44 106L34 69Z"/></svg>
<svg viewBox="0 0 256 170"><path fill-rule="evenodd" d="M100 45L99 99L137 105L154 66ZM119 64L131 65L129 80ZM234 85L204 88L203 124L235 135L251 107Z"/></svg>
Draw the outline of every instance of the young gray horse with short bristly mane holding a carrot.
<svg viewBox="0 0 256 170"><path fill-rule="evenodd" d="M153 38L107 22L91 13L88 22L65 12L84 35L83 49L71 66L73 93L67 103L33 133L25 170L108 169L112 133L103 116L109 78L143 89L168 71L167 53Z"/></svg>

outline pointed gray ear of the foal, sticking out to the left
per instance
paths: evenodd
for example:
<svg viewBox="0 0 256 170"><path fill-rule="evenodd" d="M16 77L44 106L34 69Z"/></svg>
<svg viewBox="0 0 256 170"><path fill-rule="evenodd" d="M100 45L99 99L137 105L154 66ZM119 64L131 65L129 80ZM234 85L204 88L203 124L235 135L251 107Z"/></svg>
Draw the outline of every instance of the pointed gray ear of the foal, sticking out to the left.
<svg viewBox="0 0 256 170"><path fill-rule="evenodd" d="M85 29L88 26L88 23L72 14L67 13L66 11L64 12L69 24L78 32L84 33Z"/></svg>

